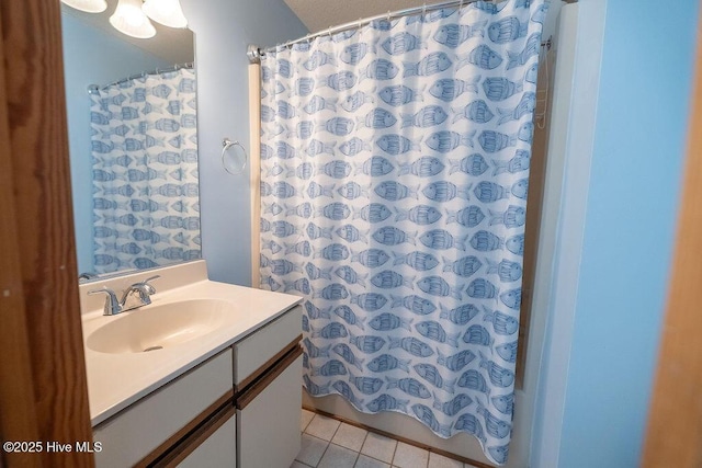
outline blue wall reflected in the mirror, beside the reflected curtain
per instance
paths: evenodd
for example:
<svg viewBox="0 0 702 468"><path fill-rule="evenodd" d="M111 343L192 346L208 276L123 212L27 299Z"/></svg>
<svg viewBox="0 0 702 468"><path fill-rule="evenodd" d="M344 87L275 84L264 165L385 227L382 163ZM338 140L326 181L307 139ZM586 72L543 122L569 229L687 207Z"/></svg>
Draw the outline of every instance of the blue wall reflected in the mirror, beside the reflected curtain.
<svg viewBox="0 0 702 468"><path fill-rule="evenodd" d="M172 64L86 25L70 14L61 13L61 28L78 271L90 272L93 248L88 85L107 84Z"/></svg>

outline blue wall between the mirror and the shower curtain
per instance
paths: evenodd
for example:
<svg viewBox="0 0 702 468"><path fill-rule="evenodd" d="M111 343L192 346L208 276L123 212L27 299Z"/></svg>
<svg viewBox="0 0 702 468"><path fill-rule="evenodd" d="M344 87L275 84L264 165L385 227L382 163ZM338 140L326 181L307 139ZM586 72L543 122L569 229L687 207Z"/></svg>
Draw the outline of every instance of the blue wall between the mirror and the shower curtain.
<svg viewBox="0 0 702 468"><path fill-rule="evenodd" d="M222 139L249 145L247 45L271 46L307 34L283 0L181 0L195 32L197 142L203 256L210 278L251 284L248 171L222 167Z"/></svg>

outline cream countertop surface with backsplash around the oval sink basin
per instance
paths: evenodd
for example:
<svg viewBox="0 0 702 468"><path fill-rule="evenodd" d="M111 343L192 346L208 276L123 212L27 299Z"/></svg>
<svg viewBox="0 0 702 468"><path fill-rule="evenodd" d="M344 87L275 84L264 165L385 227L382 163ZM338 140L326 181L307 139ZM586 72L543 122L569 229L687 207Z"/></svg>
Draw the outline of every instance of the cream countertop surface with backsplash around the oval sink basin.
<svg viewBox="0 0 702 468"><path fill-rule="evenodd" d="M82 309L83 344L91 333L104 324L120 320L129 313L148 313L149 307L192 299L218 299L233 305L233 313L230 317L227 316L222 327L177 346L148 353L110 354L97 352L86 345L88 397L93 426L280 317L302 300L297 296L202 279L202 272L205 272L204 262L202 265L193 262L185 267L185 271L190 269L192 273L193 267L200 273L201 279L190 284L186 281L172 281L168 277L173 271L176 275L183 271L182 269L179 271L176 266L128 275L126 279L121 277L80 286L81 301L86 306ZM115 281L121 282L120 284L124 284L125 281L132 284L135 282L134 277L140 281L154 274L161 274L162 283L167 287L166 290L159 290L151 296L151 306L107 317L102 315L103 296L90 296L90 298L98 297L98 301L83 297L89 289L111 287ZM154 285L158 288L159 279L154 282Z"/></svg>

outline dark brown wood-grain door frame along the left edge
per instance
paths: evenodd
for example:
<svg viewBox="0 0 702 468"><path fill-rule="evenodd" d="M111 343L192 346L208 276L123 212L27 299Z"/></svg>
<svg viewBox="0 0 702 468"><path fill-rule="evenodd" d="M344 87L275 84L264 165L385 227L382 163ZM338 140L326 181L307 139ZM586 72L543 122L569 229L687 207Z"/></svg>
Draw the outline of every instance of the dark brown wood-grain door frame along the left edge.
<svg viewBox="0 0 702 468"><path fill-rule="evenodd" d="M59 1L0 0L0 438L35 448L0 465L92 467Z"/></svg>

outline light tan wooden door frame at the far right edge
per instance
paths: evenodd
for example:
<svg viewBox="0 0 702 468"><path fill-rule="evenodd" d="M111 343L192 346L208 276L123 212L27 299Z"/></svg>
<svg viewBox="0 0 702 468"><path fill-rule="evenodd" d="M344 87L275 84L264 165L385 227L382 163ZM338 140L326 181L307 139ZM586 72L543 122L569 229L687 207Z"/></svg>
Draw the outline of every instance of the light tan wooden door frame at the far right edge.
<svg viewBox="0 0 702 468"><path fill-rule="evenodd" d="M702 11L699 23L702 24ZM698 28L692 109L678 233L656 383L642 458L645 468L702 466L702 32Z"/></svg>

